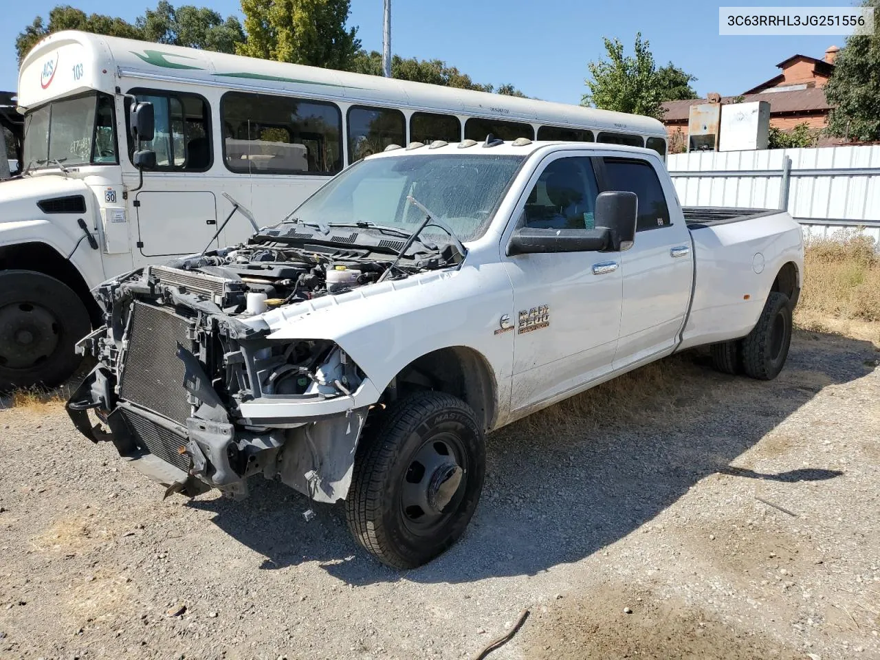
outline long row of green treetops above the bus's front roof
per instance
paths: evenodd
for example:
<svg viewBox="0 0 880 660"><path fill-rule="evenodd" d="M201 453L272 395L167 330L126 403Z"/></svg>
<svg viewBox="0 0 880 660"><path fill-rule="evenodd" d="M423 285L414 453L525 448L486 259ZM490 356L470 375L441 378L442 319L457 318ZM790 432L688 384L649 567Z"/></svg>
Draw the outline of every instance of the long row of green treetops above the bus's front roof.
<svg viewBox="0 0 880 660"><path fill-rule="evenodd" d="M103 14L86 15L70 5L59 5L49 11L48 24L38 16L18 34L15 40L18 63L37 41L60 30L82 30L221 53L234 53L236 44L245 40L238 18L231 16L224 20L216 11L191 4L174 9L167 0L161 0L155 10L148 9L142 17L137 18L135 25L121 18Z"/></svg>

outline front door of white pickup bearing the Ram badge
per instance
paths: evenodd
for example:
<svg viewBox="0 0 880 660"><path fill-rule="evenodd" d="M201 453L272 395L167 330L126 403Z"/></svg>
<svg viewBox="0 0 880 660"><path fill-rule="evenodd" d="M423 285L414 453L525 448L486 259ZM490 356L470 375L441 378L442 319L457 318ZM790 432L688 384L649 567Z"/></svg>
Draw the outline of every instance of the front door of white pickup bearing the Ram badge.
<svg viewBox="0 0 880 660"><path fill-rule="evenodd" d="M518 227L593 229L592 159L557 153L530 182ZM623 293L620 253L531 253L504 259L513 285L510 408L561 398L612 370Z"/></svg>

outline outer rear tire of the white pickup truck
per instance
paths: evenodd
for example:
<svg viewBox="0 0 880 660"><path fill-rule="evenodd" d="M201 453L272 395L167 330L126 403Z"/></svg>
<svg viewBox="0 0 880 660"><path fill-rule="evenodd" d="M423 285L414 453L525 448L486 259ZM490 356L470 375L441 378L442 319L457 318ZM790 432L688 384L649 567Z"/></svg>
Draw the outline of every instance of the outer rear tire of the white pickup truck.
<svg viewBox="0 0 880 660"><path fill-rule="evenodd" d="M758 319L742 342L743 370L759 380L773 380L782 370L791 345L791 304L784 293L771 291Z"/></svg>

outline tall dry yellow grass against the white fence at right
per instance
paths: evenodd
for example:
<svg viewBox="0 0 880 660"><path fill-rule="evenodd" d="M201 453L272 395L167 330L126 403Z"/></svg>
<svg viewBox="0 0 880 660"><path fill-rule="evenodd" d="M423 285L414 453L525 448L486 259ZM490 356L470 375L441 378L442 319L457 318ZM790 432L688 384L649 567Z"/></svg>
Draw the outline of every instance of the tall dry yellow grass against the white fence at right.
<svg viewBox="0 0 880 660"><path fill-rule="evenodd" d="M841 231L830 239L811 241L806 246L803 270L803 291L797 307L802 312L800 325L821 325L822 317L880 321L880 256L872 238Z"/></svg>

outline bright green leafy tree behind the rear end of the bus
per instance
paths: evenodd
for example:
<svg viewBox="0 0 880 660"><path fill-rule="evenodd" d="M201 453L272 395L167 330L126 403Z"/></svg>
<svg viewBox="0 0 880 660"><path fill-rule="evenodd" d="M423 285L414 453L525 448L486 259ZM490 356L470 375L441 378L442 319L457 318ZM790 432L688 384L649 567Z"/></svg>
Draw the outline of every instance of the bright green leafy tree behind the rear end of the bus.
<svg viewBox="0 0 880 660"><path fill-rule="evenodd" d="M649 45L637 33L634 55L624 55L620 40L606 37L606 59L587 64L590 77L584 84L590 91L583 95L581 105L659 118L664 101L696 97L690 85L696 78L672 62L657 69Z"/></svg>

